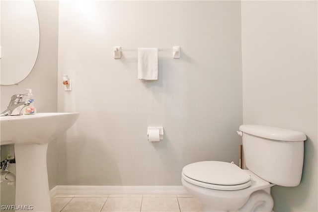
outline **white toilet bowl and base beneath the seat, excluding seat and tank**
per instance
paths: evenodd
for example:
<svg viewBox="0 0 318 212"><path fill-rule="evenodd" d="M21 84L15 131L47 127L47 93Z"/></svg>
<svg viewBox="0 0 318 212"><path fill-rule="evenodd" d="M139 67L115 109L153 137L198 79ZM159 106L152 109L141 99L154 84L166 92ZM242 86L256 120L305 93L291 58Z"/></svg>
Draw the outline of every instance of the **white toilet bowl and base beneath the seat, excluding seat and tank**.
<svg viewBox="0 0 318 212"><path fill-rule="evenodd" d="M244 170L245 171L245 170ZM272 212L274 201L270 184L249 170L252 185L246 189L222 191L208 189L181 179L183 187L203 204L204 212Z"/></svg>

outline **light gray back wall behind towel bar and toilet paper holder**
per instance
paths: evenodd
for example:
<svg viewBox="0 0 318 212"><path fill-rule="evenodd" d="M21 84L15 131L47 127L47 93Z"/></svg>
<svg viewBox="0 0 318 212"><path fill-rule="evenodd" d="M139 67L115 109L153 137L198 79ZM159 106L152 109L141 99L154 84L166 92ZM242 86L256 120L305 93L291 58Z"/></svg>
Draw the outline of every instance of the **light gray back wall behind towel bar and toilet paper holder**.
<svg viewBox="0 0 318 212"><path fill-rule="evenodd" d="M79 112L59 140L60 185L181 185L184 165L239 161L239 1L61 1L58 110ZM159 80L137 79L137 51L159 52ZM148 126L164 139L147 140Z"/></svg>

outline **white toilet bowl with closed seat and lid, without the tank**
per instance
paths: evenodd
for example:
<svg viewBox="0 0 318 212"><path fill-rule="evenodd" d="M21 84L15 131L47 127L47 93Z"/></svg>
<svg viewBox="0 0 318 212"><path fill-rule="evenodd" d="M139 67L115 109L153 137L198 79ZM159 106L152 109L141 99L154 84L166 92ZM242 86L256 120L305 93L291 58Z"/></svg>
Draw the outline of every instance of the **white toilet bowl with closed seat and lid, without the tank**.
<svg viewBox="0 0 318 212"><path fill-rule="evenodd" d="M203 173L204 175L200 176ZM254 211L256 207L262 207L262 212L271 212L273 208L270 187L274 184L266 182L249 170L240 169L233 163L196 162L185 166L181 175L183 187L203 204L206 212L249 212ZM217 177L211 178L213 175ZM260 192L255 193L256 191Z"/></svg>

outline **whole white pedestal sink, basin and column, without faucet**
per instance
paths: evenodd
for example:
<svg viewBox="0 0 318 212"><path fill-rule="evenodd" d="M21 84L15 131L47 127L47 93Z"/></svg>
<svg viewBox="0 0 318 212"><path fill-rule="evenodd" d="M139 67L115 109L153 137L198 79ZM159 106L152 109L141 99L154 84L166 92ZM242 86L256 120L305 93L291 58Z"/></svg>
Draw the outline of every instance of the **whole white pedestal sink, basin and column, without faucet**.
<svg viewBox="0 0 318 212"><path fill-rule="evenodd" d="M37 113L0 117L0 144L14 144L15 205L51 212L46 166L48 143L67 131L79 113Z"/></svg>

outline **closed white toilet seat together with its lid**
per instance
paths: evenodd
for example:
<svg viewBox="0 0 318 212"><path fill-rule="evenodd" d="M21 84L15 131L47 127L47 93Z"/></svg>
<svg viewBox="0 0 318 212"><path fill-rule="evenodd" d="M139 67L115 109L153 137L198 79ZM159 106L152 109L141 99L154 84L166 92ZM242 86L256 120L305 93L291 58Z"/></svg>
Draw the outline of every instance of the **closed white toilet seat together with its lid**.
<svg viewBox="0 0 318 212"><path fill-rule="evenodd" d="M235 191L251 185L250 175L237 165L222 161L201 161L186 165L182 178L194 185L224 191Z"/></svg>

